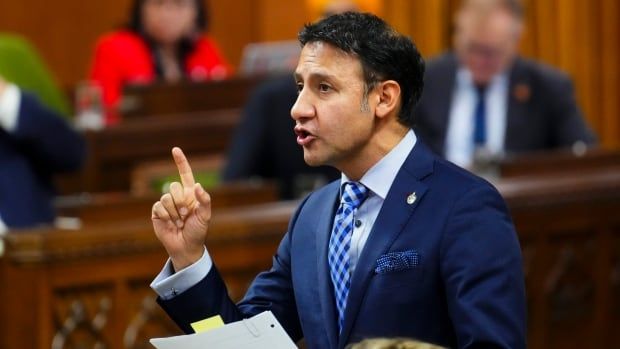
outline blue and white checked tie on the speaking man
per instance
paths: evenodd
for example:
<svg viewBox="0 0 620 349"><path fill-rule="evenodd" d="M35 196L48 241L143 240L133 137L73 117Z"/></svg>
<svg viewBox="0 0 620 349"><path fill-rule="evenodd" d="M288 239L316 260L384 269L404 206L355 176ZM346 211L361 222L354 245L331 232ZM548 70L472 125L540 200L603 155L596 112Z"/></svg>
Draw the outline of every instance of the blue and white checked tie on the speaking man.
<svg viewBox="0 0 620 349"><path fill-rule="evenodd" d="M338 327L342 331L344 310L351 287L349 249L353 233L353 217L357 208L366 199L368 189L357 182L347 182L341 189L340 206L334 218L334 227L329 239L329 269L334 285L336 307L338 308Z"/></svg>

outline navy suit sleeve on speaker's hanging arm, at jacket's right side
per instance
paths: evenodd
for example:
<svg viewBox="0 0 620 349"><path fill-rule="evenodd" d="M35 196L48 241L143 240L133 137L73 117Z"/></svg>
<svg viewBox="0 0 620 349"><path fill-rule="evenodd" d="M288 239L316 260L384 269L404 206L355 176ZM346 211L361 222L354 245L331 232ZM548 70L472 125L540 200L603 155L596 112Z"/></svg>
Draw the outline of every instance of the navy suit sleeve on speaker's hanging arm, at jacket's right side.
<svg viewBox="0 0 620 349"><path fill-rule="evenodd" d="M479 185L455 203L441 254L459 348L525 348L521 252L507 208L494 188Z"/></svg>

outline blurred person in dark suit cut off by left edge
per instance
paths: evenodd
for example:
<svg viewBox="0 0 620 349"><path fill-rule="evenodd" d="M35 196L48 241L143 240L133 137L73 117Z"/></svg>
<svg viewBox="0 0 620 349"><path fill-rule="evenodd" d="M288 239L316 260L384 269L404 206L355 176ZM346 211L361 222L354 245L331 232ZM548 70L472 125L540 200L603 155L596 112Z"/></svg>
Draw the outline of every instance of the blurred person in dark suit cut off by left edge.
<svg viewBox="0 0 620 349"><path fill-rule="evenodd" d="M0 76L0 230L52 223L52 176L79 169L85 158L81 135Z"/></svg>

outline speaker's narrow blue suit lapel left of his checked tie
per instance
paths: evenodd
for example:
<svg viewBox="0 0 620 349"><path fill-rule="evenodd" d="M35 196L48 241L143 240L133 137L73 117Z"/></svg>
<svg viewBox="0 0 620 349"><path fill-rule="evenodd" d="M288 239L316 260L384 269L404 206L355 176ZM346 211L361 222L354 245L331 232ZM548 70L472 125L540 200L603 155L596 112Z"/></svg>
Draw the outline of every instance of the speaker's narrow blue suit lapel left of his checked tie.
<svg viewBox="0 0 620 349"><path fill-rule="evenodd" d="M338 325L336 321L336 304L334 303L334 291L329 273L329 264L327 261L327 250L329 237L334 223L334 215L336 212L336 203L340 195L340 181L333 185L334 189L330 190L329 197L326 199L326 205L319 215L319 221L316 231L316 248L317 248L317 272L319 275L319 297L321 298L321 312L325 321L325 329L329 341L329 347L335 348L338 343ZM326 195L326 197L328 196Z"/></svg>

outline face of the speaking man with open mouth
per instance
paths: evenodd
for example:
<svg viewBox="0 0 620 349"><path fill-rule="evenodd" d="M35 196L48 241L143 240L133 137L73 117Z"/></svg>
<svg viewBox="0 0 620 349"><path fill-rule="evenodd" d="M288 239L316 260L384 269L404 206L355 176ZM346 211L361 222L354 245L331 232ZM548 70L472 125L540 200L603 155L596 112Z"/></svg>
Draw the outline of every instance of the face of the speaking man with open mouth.
<svg viewBox="0 0 620 349"><path fill-rule="evenodd" d="M308 43L301 51L295 80L299 96L291 116L306 163L346 172L363 162L374 130L376 99L365 98L359 59L327 43Z"/></svg>

